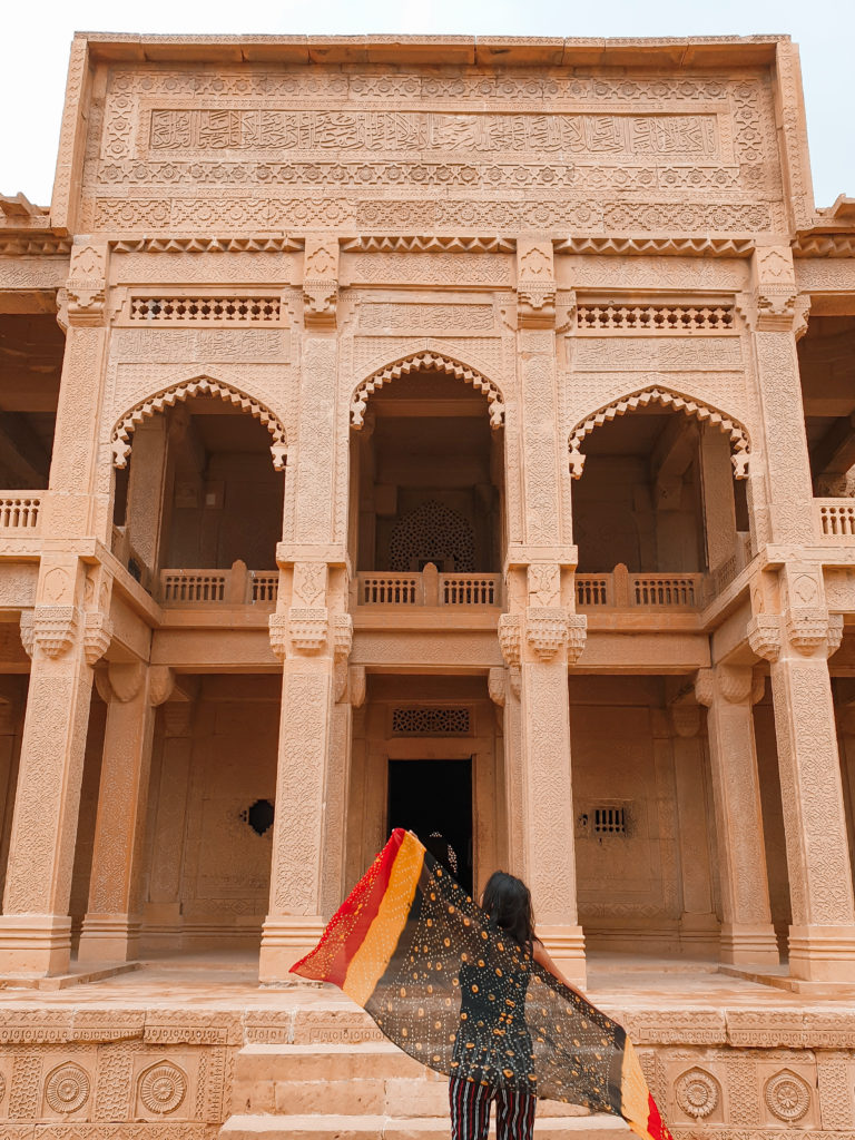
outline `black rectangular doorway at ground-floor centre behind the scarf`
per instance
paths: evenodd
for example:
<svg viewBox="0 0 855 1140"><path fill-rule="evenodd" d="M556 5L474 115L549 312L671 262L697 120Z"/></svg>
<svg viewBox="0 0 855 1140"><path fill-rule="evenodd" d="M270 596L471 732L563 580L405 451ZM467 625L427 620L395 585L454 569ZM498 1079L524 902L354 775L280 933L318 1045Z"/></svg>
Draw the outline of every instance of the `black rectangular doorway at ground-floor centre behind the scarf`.
<svg viewBox="0 0 855 1140"><path fill-rule="evenodd" d="M440 831L457 857L455 878L472 894L472 759L390 760L389 829L406 828L422 842ZM433 854L438 853L433 850Z"/></svg>

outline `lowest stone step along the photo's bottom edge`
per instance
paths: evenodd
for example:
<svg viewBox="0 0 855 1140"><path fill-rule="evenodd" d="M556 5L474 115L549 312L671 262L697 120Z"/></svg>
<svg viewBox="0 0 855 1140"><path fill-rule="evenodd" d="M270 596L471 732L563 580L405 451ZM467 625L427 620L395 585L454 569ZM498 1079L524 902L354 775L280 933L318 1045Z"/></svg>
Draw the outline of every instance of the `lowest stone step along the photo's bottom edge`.
<svg viewBox="0 0 855 1140"><path fill-rule="evenodd" d="M629 1140L616 1116L538 1116L537 1140ZM448 1117L235 1115L220 1140L448 1140Z"/></svg>

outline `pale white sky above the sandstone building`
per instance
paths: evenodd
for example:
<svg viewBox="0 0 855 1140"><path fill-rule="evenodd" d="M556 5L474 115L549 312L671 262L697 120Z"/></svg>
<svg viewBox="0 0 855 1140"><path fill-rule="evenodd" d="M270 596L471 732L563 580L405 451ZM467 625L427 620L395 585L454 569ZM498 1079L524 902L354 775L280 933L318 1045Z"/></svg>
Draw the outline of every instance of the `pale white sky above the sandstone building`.
<svg viewBox="0 0 855 1140"><path fill-rule="evenodd" d="M817 205L855 194L852 0L6 0L0 193L47 205L75 31L173 34L756 35L799 44Z"/></svg>

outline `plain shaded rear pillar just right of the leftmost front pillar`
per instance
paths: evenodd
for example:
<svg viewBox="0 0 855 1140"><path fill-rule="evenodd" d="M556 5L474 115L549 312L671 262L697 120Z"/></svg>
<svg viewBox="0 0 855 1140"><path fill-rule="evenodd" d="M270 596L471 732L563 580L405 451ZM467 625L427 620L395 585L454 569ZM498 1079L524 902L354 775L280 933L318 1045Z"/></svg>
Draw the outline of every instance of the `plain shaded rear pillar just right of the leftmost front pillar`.
<svg viewBox="0 0 855 1140"><path fill-rule="evenodd" d="M138 956L141 877L154 709L172 691L172 670L111 665L99 691L107 703L89 905L78 959Z"/></svg>

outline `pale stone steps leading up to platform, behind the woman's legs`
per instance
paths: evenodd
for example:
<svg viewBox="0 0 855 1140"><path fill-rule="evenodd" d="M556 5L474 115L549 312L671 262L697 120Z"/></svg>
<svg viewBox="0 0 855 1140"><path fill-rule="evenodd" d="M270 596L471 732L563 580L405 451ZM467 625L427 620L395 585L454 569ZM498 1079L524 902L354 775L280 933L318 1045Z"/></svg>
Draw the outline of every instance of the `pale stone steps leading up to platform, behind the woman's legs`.
<svg viewBox="0 0 855 1140"><path fill-rule="evenodd" d="M614 1116L544 1102L538 1140L628 1140ZM221 1140L448 1140L443 1077L385 1041L246 1044ZM494 1124L495 1127L495 1124Z"/></svg>

